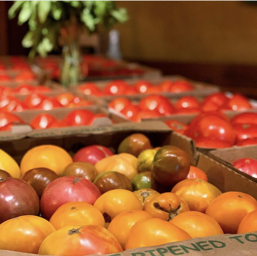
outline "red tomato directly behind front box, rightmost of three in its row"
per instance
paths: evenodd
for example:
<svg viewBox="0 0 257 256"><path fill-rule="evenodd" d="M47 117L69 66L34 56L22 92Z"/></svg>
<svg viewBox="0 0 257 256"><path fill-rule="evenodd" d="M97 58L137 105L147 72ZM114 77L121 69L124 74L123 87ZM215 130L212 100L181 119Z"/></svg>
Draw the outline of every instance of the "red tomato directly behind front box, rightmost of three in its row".
<svg viewBox="0 0 257 256"><path fill-rule="evenodd" d="M89 125L93 115L93 112L86 109L73 110L64 118L64 121L69 126Z"/></svg>

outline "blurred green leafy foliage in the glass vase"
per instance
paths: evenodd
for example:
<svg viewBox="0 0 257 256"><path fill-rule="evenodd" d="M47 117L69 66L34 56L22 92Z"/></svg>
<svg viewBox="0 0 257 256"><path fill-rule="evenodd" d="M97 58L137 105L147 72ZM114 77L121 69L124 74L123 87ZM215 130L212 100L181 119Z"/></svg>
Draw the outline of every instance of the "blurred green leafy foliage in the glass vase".
<svg viewBox="0 0 257 256"><path fill-rule="evenodd" d="M29 25L22 45L31 48L30 58L36 53L44 57L56 48L60 31L70 24L92 33L99 25L110 29L116 22L128 19L126 9L117 9L113 1L15 1L8 11L9 18L18 13L18 25ZM71 34L66 38L72 39Z"/></svg>

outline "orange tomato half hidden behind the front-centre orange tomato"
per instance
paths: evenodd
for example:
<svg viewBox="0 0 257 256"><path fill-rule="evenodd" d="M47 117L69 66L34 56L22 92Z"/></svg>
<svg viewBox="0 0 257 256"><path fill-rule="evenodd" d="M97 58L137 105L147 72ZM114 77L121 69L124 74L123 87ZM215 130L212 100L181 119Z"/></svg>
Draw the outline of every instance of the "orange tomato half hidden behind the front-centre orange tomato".
<svg viewBox="0 0 257 256"><path fill-rule="evenodd" d="M125 243L132 226L142 219L150 219L152 216L142 210L132 210L130 212L123 212L118 214L110 222L108 230L115 236L121 245L122 249L125 248Z"/></svg>

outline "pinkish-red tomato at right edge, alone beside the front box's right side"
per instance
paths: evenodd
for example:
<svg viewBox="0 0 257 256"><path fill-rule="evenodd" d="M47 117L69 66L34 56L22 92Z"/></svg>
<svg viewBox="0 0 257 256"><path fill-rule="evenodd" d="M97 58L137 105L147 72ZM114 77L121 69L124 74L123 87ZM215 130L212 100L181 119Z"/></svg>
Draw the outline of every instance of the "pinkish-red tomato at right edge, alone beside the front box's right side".
<svg viewBox="0 0 257 256"><path fill-rule="evenodd" d="M257 178L257 160L253 158L240 158L232 162L238 170Z"/></svg>

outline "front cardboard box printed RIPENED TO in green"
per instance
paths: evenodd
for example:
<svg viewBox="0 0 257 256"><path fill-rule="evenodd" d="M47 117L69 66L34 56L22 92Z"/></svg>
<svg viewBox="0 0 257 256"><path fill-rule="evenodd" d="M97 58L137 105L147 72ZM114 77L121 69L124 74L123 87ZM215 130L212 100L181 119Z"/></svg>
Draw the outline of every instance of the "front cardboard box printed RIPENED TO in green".
<svg viewBox="0 0 257 256"><path fill-rule="evenodd" d="M114 128L115 127L115 128ZM90 144L102 144L117 149L119 143L128 135L142 132L151 141L153 146L175 145L183 147L185 138L170 131L162 122L142 122L139 124L126 123L117 124L110 127L102 127L96 129L90 136L83 134L76 134L70 137L60 137L51 140L29 138L21 140L19 147L8 148L7 144L1 143L0 147L17 160L26 150L32 146L50 143L63 147L71 154L76 152L79 148ZM34 140L34 141L33 141ZM9 142L7 142L9 143ZM10 145L9 145L10 146ZM13 145L14 146L14 145ZM192 152L192 155L194 152ZM232 170L223 164L203 155L202 153L195 154L196 167L201 168L208 176L210 183L217 186L222 192L227 191L241 191L248 193L257 198L257 184L240 173ZM192 164L192 162L191 162ZM215 235L210 237L195 238L192 240L174 242L165 245L157 245L153 247L144 247L129 249L119 254L109 254L112 256L171 256L188 254L194 256L201 255L255 255L257 232L240 235ZM35 254L25 254L6 250L0 250L0 256L34 256Z"/></svg>

